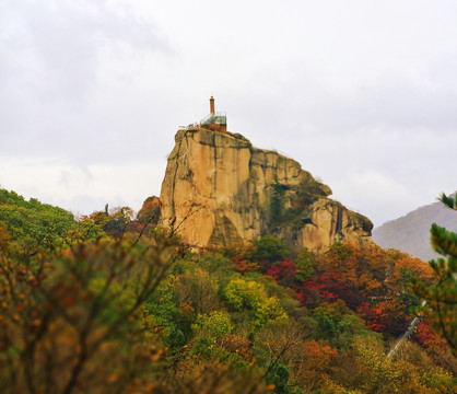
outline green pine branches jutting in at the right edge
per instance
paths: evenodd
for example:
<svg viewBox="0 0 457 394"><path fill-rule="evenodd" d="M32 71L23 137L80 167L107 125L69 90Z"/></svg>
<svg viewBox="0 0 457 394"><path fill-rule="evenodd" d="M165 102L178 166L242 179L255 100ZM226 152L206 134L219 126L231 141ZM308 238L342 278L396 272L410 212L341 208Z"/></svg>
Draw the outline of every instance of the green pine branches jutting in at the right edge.
<svg viewBox="0 0 457 394"><path fill-rule="evenodd" d="M457 210L457 195L452 198L443 194L440 199ZM429 263L437 279L434 286L427 287L414 280L413 287L426 300L425 315L457 356L457 233L436 223L432 224L430 233L433 248L447 259L440 257Z"/></svg>

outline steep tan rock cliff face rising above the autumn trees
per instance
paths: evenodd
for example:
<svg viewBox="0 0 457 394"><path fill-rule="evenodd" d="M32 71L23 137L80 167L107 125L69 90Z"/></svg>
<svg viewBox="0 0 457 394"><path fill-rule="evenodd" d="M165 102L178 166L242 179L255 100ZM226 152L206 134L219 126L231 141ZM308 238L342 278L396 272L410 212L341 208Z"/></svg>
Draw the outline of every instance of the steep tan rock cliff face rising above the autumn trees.
<svg viewBox="0 0 457 394"><path fill-rule="evenodd" d="M321 252L371 243L372 222L329 199L328 186L239 135L179 130L161 192L161 224L196 247L243 245L267 233Z"/></svg>

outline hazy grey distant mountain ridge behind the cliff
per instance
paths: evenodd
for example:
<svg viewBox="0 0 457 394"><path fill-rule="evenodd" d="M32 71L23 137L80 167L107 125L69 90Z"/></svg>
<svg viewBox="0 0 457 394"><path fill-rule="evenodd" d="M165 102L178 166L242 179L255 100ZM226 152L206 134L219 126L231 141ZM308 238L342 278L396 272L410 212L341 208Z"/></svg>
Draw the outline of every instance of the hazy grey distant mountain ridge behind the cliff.
<svg viewBox="0 0 457 394"><path fill-rule="evenodd" d="M373 240L382 247L398 248L423 260L430 260L438 256L430 246L432 223L457 231L457 215L436 201L375 228Z"/></svg>

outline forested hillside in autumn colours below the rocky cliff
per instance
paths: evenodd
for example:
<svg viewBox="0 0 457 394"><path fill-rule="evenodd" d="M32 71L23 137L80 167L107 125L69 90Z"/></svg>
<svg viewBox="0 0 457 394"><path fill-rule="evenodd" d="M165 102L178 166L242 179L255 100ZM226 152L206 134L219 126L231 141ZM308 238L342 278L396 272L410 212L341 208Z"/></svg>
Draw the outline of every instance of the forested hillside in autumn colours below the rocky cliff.
<svg viewBox="0 0 457 394"><path fill-rule="evenodd" d="M0 190L5 393L455 393L457 360L417 315L432 269L395 250L315 255L265 235L192 253L147 201L81 220Z"/></svg>

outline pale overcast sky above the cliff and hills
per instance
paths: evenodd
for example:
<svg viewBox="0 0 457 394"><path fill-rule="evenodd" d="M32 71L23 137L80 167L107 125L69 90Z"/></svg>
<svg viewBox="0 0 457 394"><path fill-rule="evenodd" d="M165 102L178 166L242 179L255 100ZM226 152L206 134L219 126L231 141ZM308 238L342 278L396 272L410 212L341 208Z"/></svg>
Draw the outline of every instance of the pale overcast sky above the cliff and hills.
<svg viewBox="0 0 457 394"><path fill-rule="evenodd" d="M0 185L138 210L213 94L379 225L457 188L456 21L455 0L1 0Z"/></svg>

